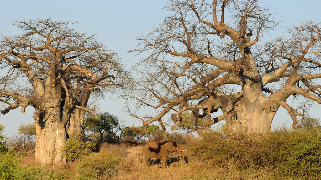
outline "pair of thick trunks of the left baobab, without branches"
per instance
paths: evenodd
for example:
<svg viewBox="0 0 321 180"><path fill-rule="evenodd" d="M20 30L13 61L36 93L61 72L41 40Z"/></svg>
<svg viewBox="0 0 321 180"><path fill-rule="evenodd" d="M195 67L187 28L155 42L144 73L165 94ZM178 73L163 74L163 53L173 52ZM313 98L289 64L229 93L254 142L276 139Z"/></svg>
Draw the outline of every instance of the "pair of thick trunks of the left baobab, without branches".
<svg viewBox="0 0 321 180"><path fill-rule="evenodd" d="M50 82L50 85L49 85ZM64 164L60 147L73 135L83 134L85 111L72 108L72 102L65 102L65 91L59 81L56 84L46 81L46 97L35 113L37 120L36 160L41 164ZM87 106L90 91L82 93L77 101L82 107Z"/></svg>

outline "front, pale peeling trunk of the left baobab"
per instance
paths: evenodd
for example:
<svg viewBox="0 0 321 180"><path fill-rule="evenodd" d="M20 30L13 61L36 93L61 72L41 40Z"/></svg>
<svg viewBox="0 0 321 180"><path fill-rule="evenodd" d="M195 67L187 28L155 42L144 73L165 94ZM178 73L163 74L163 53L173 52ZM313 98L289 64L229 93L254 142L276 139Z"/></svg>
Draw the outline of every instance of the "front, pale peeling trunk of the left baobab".
<svg viewBox="0 0 321 180"><path fill-rule="evenodd" d="M46 80L46 94L34 114L34 118L38 116L35 158L43 165L66 163L60 151L67 138L62 85L50 79Z"/></svg>

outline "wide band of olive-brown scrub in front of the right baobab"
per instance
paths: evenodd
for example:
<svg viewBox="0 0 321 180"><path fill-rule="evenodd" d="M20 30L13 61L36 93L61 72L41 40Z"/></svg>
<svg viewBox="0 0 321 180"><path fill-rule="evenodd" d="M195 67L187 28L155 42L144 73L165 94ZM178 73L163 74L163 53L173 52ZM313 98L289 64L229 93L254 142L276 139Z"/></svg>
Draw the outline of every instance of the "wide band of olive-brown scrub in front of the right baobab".
<svg viewBox="0 0 321 180"><path fill-rule="evenodd" d="M248 135L208 130L188 144L191 157L209 167L240 172L268 168L274 178L321 178L321 127L281 128L268 134Z"/></svg>

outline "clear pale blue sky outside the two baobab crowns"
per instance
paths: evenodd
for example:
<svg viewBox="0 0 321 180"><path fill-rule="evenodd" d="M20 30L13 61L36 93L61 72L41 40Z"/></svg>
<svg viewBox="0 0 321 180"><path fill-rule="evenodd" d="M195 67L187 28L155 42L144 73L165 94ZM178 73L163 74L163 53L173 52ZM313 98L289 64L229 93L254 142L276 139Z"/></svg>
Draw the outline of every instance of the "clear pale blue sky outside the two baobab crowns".
<svg viewBox="0 0 321 180"><path fill-rule="evenodd" d="M133 37L146 33L154 25L161 23L162 19L169 15L163 7L166 1L162 0L123 0L123 1L2 1L3 11L0 18L0 32L4 35L15 35L21 31L11 25L15 20L52 18L53 20L69 20L78 22L73 27L88 34L99 35L98 40L110 49L119 52L127 69L137 62L132 59L134 54L126 50L133 48L137 42ZM277 20L283 20L283 27L291 27L304 20L320 22L320 1L309 0L265 0L261 1L263 7L270 7L271 12L277 13ZM278 28L271 32L270 37L284 35L284 28ZM130 60L132 59L132 60ZM124 102L112 101L107 96L100 101L102 111L109 111L126 120L126 124L138 125L136 119L121 114ZM321 116L320 106L314 108L313 116ZM7 128L5 133L13 135L17 133L20 122L34 122L32 119L34 108L28 107L26 114L22 114L18 108L0 117L0 123ZM273 120L273 125L278 122L290 123L286 110L280 107Z"/></svg>

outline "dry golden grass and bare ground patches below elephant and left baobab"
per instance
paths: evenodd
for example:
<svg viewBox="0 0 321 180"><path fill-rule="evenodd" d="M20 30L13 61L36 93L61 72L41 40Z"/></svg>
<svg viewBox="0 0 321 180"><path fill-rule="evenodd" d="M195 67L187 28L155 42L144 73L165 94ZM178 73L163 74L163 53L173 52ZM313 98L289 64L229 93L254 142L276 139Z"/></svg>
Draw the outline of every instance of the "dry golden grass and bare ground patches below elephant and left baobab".
<svg viewBox="0 0 321 180"><path fill-rule="evenodd" d="M98 179L105 180L117 180L117 179L127 179L127 180L181 180L181 179L197 179L197 180L256 180L256 179L282 179L287 180L289 178L275 178L273 176L271 168L263 167L259 170L248 169L246 171L239 171L233 167L230 168L217 168L213 167L208 163L208 160L199 160L191 155L190 151L187 151L187 163L184 161L175 161L177 160L179 154L173 153L170 154L168 161L168 166L164 168L158 168L157 164L160 161L153 162L151 168L146 168L142 160L142 145L134 147L124 147L124 145L114 145L114 144L103 144L101 146L102 151L118 151L120 154L126 154L124 157L126 160L126 168L121 172L113 174L112 177L108 176L99 176ZM98 154L98 153L95 153ZM101 157L103 158L103 157ZM30 159L31 160L31 159ZM24 160L22 160L24 161ZM33 166L34 161L30 161ZM62 165L61 167L56 167L55 169L62 170L63 172L69 172L77 176L77 171L75 166L77 165L76 161L68 162L67 165ZM24 163L23 166L30 166L28 163ZM52 166L48 166L49 169L52 169ZM95 178L93 178L95 179Z"/></svg>

